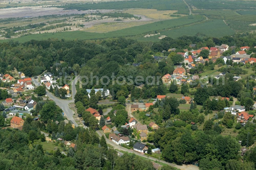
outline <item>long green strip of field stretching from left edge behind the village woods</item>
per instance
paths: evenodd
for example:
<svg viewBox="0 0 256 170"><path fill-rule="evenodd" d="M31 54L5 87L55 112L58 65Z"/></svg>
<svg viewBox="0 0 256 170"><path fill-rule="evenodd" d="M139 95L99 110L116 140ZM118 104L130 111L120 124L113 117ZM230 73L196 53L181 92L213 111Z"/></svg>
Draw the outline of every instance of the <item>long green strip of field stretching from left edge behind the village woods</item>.
<svg viewBox="0 0 256 170"><path fill-rule="evenodd" d="M89 39L100 39L100 38L110 38L110 37L126 37L126 36L134 36L141 34L142 37L151 32L157 32L162 29L170 29L178 26L183 26L186 24L198 22L204 20L205 18L200 15L195 15L193 18L189 18L187 16L170 19L170 20L162 20L154 23L149 23L141 26L135 26L131 28L126 28L122 30L111 31L107 33L92 33L92 32L84 32L84 31L66 31L66 32L57 32L57 33L44 33L44 34L32 34L24 37L19 37L17 39L7 39L1 40L0 42L9 41L9 40L18 40L20 42L26 42L32 39L35 40L45 40L48 38L65 38L66 40L89 40Z"/></svg>

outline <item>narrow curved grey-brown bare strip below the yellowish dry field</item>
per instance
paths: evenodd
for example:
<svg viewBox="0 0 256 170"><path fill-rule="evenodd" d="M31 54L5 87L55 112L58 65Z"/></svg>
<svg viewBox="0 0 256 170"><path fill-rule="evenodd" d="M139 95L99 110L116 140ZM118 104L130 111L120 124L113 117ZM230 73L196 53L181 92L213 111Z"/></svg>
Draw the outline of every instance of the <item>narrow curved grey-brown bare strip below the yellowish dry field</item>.
<svg viewBox="0 0 256 170"><path fill-rule="evenodd" d="M143 15L135 15L137 17L141 17L140 20L123 20L123 21L115 21L115 20L109 20L109 19L103 19L103 20L93 20L93 21L90 21L90 22L86 22L84 23L83 25L86 27L86 28L90 28L92 27L93 25L95 24L100 24L100 23L104 23L104 22L142 22L142 21L150 21L152 20L151 18L147 18Z"/></svg>

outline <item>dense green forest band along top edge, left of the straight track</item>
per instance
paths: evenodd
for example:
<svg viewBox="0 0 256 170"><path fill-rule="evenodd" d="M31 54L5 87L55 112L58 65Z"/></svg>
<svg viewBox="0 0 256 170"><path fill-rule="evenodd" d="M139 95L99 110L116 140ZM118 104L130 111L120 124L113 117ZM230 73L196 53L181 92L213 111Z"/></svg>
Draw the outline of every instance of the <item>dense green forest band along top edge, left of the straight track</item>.
<svg viewBox="0 0 256 170"><path fill-rule="evenodd" d="M179 10L178 14L189 14L186 4L181 0L141 0L141 1L113 1L87 4L68 4L57 6L64 9L95 10L95 9L129 9L146 8L157 10Z"/></svg>

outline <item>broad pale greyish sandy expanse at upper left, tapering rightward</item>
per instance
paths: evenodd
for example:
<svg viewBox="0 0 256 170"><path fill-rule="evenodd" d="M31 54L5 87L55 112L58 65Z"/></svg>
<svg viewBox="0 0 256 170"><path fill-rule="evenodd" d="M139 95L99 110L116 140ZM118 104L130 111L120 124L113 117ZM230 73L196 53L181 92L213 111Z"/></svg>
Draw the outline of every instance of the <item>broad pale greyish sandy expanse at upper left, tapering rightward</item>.
<svg viewBox="0 0 256 170"><path fill-rule="evenodd" d="M44 15L65 15L65 14L90 14L95 13L96 10L63 10L62 8L56 7L18 7L18 8L6 8L0 9L0 18L17 18L17 17L38 17ZM113 10L98 10L101 13L111 12Z"/></svg>

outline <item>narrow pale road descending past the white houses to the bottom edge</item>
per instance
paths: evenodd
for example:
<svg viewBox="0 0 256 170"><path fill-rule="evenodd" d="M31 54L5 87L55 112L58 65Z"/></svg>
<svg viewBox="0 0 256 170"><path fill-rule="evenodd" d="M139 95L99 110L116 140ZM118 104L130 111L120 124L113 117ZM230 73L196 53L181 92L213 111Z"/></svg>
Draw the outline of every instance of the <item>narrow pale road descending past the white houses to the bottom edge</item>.
<svg viewBox="0 0 256 170"><path fill-rule="evenodd" d="M98 133L98 135L99 135L100 137L103 135L100 130L97 130L96 132ZM183 165L176 165L176 164L173 164L173 163L169 163L169 162L165 162L165 161L163 161L163 160L156 159L156 158L151 157L151 156L146 156L146 155L144 155L144 154L135 152L135 151L130 150L130 149L123 148L123 147L121 147L120 145L117 145L117 144L113 143L112 141L110 141L109 139L107 139L105 135L104 135L104 137L105 137L105 139L106 139L106 142L107 142L108 144L110 144L111 146L113 146L114 149L126 151L126 152L129 152L129 153L134 153L135 155L142 156L142 157L147 158L147 159L150 159L150 160L152 160L152 161L162 162L162 163L164 163L164 164L167 164L167 165L170 165L170 166L179 168L179 169L199 170L199 168L198 168L197 166L195 166L195 165L185 165L185 164L183 164Z"/></svg>

